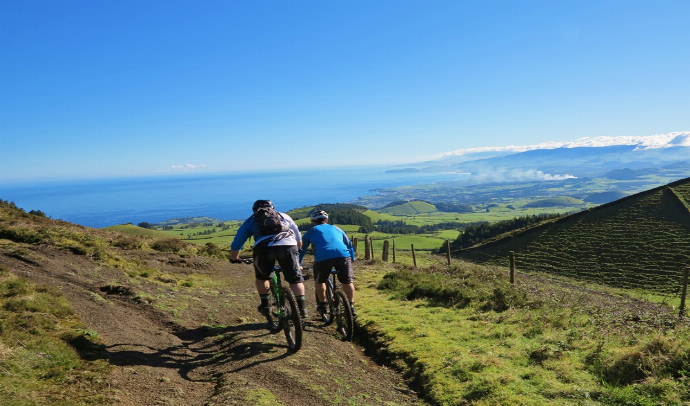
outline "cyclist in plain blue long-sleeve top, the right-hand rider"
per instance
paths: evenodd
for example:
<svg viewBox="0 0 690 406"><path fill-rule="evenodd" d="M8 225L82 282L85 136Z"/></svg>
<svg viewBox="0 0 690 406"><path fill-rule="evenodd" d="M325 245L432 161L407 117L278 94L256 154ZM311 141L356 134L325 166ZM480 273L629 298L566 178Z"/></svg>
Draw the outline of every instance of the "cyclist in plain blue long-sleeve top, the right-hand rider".
<svg viewBox="0 0 690 406"><path fill-rule="evenodd" d="M338 273L343 293L352 306L355 314L355 285L352 261L355 260L355 250L347 234L339 227L328 224L328 213L323 210L315 210L310 214L314 227L307 230L302 236L302 249L299 254L300 264L307 248L312 246L314 251L314 290L319 301L317 309L319 313L326 313L326 280L331 269Z"/></svg>

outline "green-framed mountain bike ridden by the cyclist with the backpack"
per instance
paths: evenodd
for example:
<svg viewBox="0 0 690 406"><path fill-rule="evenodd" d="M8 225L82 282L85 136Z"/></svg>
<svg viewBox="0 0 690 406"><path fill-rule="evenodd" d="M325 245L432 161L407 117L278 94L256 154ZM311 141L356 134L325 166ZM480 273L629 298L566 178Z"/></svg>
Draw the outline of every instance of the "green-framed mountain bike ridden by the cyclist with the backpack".
<svg viewBox="0 0 690 406"><path fill-rule="evenodd" d="M270 275L271 295L268 298L266 321L271 332L283 330L290 350L299 351L302 348L302 318L295 294L289 286L282 284L281 271L282 269L276 266Z"/></svg>

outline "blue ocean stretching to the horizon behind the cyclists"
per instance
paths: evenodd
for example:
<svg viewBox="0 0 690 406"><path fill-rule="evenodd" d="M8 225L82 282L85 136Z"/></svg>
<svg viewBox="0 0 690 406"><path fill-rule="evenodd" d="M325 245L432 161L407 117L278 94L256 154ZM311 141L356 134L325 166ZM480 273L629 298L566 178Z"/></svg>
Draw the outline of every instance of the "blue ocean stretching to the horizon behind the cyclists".
<svg viewBox="0 0 690 406"><path fill-rule="evenodd" d="M87 227L159 223L177 217L246 219L252 203L270 199L280 211L347 203L372 189L459 180L462 174L386 173L383 167L233 172L0 184L0 199L26 211Z"/></svg>

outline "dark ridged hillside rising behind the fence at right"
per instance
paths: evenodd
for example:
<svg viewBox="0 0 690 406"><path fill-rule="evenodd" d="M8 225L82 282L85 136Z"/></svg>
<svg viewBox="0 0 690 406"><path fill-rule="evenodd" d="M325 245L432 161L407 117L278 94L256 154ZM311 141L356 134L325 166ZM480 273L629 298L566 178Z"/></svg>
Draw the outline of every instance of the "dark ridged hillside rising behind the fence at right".
<svg viewBox="0 0 690 406"><path fill-rule="evenodd" d="M690 178L456 252L624 288L677 293L690 265Z"/></svg>

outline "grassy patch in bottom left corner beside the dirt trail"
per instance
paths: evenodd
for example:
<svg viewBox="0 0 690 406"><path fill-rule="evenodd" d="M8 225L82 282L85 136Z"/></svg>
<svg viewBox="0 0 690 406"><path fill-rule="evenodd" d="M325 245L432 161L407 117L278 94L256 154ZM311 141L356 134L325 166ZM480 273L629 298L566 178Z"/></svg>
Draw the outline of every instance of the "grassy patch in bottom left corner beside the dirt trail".
<svg viewBox="0 0 690 406"><path fill-rule="evenodd" d="M105 361L58 289L0 268L0 404L108 404Z"/></svg>

